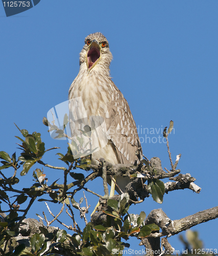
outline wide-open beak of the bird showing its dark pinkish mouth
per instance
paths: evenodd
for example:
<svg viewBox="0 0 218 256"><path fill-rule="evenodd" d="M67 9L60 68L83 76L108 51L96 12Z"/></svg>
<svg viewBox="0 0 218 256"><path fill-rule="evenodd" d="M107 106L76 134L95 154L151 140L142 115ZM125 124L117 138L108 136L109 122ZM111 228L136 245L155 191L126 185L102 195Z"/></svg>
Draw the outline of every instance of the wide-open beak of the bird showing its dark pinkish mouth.
<svg viewBox="0 0 218 256"><path fill-rule="evenodd" d="M86 65L88 71L90 71L101 59L101 46L97 40L93 40L89 46L88 52L86 54Z"/></svg>

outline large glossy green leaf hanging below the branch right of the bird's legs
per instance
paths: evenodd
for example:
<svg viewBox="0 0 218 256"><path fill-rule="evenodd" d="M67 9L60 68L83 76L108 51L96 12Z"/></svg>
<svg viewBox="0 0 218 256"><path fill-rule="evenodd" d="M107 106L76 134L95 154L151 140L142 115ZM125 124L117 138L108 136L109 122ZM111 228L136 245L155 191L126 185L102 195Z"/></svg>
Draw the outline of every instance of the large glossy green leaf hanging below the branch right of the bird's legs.
<svg viewBox="0 0 218 256"><path fill-rule="evenodd" d="M150 194L152 195L152 198L155 202L162 204L163 202L163 195L165 192L165 186L164 183L160 180L149 180L148 181L148 189Z"/></svg>

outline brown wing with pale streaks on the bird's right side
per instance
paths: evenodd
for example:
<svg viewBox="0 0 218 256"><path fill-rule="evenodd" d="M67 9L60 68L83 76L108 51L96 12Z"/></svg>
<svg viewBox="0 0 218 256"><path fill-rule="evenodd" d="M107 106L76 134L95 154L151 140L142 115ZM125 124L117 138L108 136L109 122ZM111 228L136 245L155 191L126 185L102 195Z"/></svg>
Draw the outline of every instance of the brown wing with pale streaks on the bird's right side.
<svg viewBox="0 0 218 256"><path fill-rule="evenodd" d="M115 145L120 163L134 163L135 151L140 147L136 124L127 100L111 81L111 101L105 115L107 138Z"/></svg>

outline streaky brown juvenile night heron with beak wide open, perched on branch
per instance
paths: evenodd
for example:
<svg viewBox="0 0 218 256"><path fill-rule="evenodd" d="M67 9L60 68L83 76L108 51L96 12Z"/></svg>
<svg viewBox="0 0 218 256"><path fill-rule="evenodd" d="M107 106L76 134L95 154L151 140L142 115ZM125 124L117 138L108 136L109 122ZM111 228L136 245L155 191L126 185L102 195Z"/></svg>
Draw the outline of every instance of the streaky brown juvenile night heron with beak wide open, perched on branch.
<svg viewBox="0 0 218 256"><path fill-rule="evenodd" d="M92 163L98 165L98 160L104 158L112 164L133 164L137 160L135 151L140 147L140 141L129 104L111 80L111 60L108 40L102 33L85 38L80 53L80 71L69 89L71 135L76 136L76 130L83 130L86 124L91 127L90 117L92 120L95 117L95 124L98 123L95 127L101 130L95 136L98 147L92 153ZM121 176L115 179L119 188L125 191L130 179ZM110 178L107 181L111 183L111 197L115 184ZM115 189L120 194L120 190Z"/></svg>

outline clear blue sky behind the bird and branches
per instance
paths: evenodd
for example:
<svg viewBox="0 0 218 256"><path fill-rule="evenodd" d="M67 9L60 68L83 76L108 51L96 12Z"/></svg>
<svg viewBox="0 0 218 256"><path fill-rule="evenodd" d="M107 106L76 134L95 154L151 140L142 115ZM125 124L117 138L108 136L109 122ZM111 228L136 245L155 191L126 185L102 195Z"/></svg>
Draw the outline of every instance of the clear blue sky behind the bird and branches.
<svg viewBox="0 0 218 256"><path fill-rule="evenodd" d="M18 154L15 122L30 133L40 132L46 148L61 147L45 158L61 166L55 154L65 154L66 142L52 139L42 118L67 100L79 71L84 38L102 32L113 54L112 79L128 100L137 127L158 131L173 120L175 134L169 136L173 161L181 153L178 168L195 177L202 188L199 195L191 190L171 192L164 195L162 205L149 198L130 208L130 213L143 210L148 215L162 208L175 220L217 206L217 11L216 0L41 0L26 12L6 17L0 5L0 151ZM144 139L143 154L159 157L162 167L169 169L165 143L152 143L159 135L139 134ZM145 142L146 136L151 143ZM21 185L32 184L32 172L20 178ZM62 177L60 171L44 172L49 184ZM102 179L92 183L91 188L98 187L103 194ZM98 199L86 196L93 209ZM40 215L46 211L43 202L34 207L31 218L36 218L36 209ZM51 208L58 213L59 206ZM192 230L199 231L205 248L214 249L217 226L218 220L213 220ZM168 241L182 250L178 236ZM131 248L141 249L139 242L134 240Z"/></svg>

